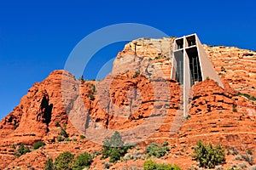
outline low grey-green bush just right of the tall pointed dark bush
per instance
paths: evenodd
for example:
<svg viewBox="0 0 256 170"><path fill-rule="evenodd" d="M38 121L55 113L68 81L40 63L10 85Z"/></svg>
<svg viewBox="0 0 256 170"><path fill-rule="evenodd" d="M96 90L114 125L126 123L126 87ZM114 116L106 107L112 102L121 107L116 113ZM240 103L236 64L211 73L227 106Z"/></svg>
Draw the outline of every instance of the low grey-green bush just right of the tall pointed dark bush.
<svg viewBox="0 0 256 170"><path fill-rule="evenodd" d="M148 157L154 156L160 158L162 156L166 156L167 151L170 151L170 148L166 147L164 143L162 146L152 143L146 148Z"/></svg>

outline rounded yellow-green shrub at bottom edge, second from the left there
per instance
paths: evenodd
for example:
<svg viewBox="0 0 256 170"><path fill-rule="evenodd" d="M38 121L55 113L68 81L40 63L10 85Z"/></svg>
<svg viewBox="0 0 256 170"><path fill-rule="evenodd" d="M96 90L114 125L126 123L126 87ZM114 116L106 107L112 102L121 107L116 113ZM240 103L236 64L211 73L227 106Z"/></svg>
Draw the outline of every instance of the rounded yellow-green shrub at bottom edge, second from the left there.
<svg viewBox="0 0 256 170"><path fill-rule="evenodd" d="M55 170L73 169L74 156L69 151L62 152L56 157L54 167Z"/></svg>

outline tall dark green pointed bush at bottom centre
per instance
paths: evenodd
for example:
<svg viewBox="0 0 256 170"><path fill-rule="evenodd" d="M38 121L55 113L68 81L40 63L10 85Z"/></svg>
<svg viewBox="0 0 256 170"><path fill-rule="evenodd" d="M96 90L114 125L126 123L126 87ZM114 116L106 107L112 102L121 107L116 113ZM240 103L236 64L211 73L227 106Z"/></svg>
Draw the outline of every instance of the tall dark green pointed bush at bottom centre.
<svg viewBox="0 0 256 170"><path fill-rule="evenodd" d="M102 158L110 158L110 162L119 161L124 156L131 145L124 144L119 132L115 131L110 139L103 142Z"/></svg>

